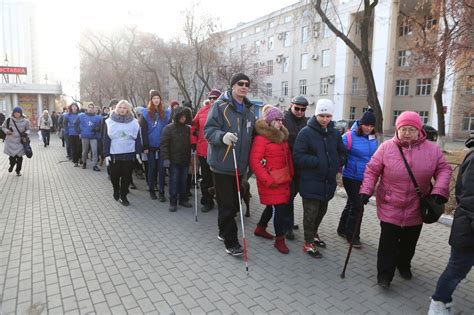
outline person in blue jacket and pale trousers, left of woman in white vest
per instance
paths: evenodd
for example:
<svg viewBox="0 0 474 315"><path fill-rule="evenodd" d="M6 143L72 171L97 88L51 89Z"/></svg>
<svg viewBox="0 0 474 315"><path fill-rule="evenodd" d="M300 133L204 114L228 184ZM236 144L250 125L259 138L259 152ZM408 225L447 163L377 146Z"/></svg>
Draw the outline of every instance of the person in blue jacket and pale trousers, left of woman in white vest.
<svg viewBox="0 0 474 315"><path fill-rule="evenodd" d="M97 166L97 140L100 138L102 117L97 114L94 104L87 106L87 111L77 116L75 126L82 141L82 168L87 167L87 156L89 155L89 146L92 151L92 169L100 172Z"/></svg>

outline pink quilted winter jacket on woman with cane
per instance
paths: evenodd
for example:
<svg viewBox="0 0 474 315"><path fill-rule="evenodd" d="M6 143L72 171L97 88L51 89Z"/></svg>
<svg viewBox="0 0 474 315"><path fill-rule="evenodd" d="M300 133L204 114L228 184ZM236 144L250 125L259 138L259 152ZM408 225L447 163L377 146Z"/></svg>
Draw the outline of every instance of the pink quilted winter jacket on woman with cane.
<svg viewBox="0 0 474 315"><path fill-rule="evenodd" d="M420 225L423 223L420 202L398 150L397 146L400 145L402 144L396 134L380 145L367 164L360 193L372 195L380 177L377 187L378 218L398 226ZM403 144L402 148L423 194L430 193L430 181L434 178L431 194L447 199L452 170L440 148L426 140L424 130L415 143L411 146Z"/></svg>

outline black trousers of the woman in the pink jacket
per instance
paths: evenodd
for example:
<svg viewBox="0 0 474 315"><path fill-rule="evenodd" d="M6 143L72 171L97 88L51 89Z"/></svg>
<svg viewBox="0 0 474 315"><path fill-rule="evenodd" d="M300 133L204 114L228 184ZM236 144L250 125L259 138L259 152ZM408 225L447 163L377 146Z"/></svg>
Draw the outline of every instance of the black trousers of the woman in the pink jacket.
<svg viewBox="0 0 474 315"><path fill-rule="evenodd" d="M380 222L382 230L377 253L377 279L392 281L395 268L410 270L422 226L402 227Z"/></svg>

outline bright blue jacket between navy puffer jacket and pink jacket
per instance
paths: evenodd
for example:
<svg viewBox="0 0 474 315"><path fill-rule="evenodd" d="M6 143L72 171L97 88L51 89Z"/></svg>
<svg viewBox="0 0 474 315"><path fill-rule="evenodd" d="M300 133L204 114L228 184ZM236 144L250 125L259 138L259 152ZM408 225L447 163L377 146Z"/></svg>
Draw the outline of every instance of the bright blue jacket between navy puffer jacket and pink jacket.
<svg viewBox="0 0 474 315"><path fill-rule="evenodd" d="M364 179L365 166L370 161L372 155L377 151L378 141L375 135L358 136L356 131L359 122L356 121L350 130L351 147L348 150L347 163L342 172L342 176L362 181ZM348 147L347 133L342 136L344 146Z"/></svg>

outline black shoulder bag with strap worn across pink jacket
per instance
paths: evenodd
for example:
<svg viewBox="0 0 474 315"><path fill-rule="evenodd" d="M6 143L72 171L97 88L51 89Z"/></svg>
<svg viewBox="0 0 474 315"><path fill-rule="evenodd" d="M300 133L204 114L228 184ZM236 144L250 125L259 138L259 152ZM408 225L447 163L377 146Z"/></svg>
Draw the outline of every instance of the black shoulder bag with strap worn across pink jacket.
<svg viewBox="0 0 474 315"><path fill-rule="evenodd" d="M403 158L403 163L405 163L405 167L408 171L408 174L410 175L411 181L413 182L413 185L415 185L416 193L420 198L420 211L423 222L427 224L437 222L439 220L439 217L441 217L441 215L444 213L444 204L439 204L431 195L423 195L420 186L418 186L415 176L413 175L413 172L411 171L411 168L408 165L407 160L405 159L405 155L403 154L402 148L398 146L398 149L400 150L400 154ZM430 183L430 191L432 190L432 188L433 186Z"/></svg>

